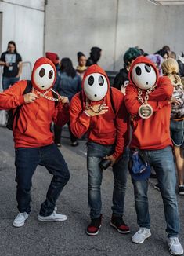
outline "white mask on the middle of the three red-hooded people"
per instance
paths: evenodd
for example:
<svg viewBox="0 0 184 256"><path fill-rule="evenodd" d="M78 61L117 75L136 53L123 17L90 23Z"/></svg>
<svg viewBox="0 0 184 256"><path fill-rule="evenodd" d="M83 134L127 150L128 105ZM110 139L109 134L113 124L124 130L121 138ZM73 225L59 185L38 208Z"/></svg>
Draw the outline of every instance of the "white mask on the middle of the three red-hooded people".
<svg viewBox="0 0 184 256"><path fill-rule="evenodd" d="M99 73L92 73L85 78L84 91L90 101L100 101L107 93L108 83L106 77Z"/></svg>

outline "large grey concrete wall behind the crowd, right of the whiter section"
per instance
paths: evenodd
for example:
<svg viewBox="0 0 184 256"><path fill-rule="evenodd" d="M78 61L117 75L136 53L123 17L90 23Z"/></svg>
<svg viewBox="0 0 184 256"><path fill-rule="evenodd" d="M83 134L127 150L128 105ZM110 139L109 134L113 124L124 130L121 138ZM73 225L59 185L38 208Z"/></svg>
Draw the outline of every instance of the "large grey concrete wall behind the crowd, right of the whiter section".
<svg viewBox="0 0 184 256"><path fill-rule="evenodd" d="M103 49L99 64L106 70L123 66L130 46L153 53L165 44L176 53L184 49L184 5L156 6L147 0L48 0L45 51L88 57L92 46Z"/></svg>

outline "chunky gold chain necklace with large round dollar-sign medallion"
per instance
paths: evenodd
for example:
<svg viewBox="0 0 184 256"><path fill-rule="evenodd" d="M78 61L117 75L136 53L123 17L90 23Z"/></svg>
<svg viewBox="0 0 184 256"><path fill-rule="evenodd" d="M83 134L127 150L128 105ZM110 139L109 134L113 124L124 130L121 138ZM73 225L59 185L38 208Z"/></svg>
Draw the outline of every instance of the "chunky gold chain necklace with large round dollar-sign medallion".
<svg viewBox="0 0 184 256"><path fill-rule="evenodd" d="M151 107L150 104L147 103L149 100L149 94L155 90L157 85L152 86L150 89L146 90L146 94L143 100L143 91L138 88L138 101L142 103L142 105L139 107L139 116L142 119L149 119L151 115L153 115L153 108Z"/></svg>

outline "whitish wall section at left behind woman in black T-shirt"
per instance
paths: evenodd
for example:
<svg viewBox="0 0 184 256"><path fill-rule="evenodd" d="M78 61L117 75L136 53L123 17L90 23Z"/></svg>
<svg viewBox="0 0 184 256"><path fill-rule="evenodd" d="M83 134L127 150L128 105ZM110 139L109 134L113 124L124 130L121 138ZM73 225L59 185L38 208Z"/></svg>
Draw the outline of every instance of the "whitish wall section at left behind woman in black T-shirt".
<svg viewBox="0 0 184 256"><path fill-rule="evenodd" d="M2 49L10 40L16 42L23 61L34 61L43 56L44 0L0 1L2 12Z"/></svg>

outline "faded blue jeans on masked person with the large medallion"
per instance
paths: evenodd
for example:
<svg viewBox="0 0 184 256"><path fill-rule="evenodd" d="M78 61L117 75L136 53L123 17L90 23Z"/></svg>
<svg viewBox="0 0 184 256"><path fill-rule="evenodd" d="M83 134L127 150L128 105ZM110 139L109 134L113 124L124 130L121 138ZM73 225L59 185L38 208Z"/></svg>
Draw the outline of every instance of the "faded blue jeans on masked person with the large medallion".
<svg viewBox="0 0 184 256"><path fill-rule="evenodd" d="M159 188L164 203L164 216L167 223L168 237L179 234L179 212L175 195L175 164L171 147L161 150L145 150L150 165L157 174ZM135 194L135 210L140 227L150 229L150 214L148 209L148 180L135 181L132 179ZM158 213L159 214L159 213Z"/></svg>

